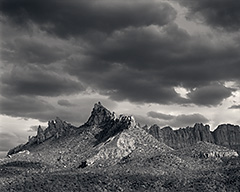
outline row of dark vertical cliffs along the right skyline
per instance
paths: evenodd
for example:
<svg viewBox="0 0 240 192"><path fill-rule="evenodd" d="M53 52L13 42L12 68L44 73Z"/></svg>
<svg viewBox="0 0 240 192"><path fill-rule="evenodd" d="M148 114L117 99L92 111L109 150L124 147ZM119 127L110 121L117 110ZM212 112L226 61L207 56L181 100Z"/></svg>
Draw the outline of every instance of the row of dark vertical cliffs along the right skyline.
<svg viewBox="0 0 240 192"><path fill-rule="evenodd" d="M198 141L222 145L240 152L240 127L220 125L213 132L208 125L197 123L194 127L173 130L171 127L160 128L153 125L148 132L168 146L179 149L189 147Z"/></svg>

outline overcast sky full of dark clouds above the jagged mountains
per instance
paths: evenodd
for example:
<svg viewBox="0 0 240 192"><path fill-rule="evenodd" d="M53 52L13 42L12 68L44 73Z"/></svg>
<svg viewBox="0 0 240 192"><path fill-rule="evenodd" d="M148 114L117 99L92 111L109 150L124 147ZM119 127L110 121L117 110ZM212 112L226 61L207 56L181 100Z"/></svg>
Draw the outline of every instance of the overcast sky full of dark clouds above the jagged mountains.
<svg viewBox="0 0 240 192"><path fill-rule="evenodd" d="M240 1L0 2L0 153L97 101L142 125L240 124Z"/></svg>

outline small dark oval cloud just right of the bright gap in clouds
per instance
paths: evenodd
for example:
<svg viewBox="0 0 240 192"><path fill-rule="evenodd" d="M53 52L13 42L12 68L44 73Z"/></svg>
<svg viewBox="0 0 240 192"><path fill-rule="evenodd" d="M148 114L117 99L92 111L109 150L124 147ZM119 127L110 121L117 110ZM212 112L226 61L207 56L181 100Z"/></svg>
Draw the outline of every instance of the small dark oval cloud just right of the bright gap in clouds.
<svg viewBox="0 0 240 192"><path fill-rule="evenodd" d="M191 101L198 105L218 105L225 98L232 95L232 89L226 88L220 84L213 84L199 87L190 92L188 97Z"/></svg>

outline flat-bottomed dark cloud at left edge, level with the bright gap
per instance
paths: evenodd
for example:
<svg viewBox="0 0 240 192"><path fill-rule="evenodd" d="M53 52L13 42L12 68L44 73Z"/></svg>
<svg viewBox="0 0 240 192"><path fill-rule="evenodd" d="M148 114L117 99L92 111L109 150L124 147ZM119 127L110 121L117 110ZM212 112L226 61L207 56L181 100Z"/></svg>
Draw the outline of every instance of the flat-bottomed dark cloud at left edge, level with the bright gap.
<svg viewBox="0 0 240 192"><path fill-rule="evenodd" d="M37 66L14 67L1 77L2 95L58 96L83 91L82 84Z"/></svg>

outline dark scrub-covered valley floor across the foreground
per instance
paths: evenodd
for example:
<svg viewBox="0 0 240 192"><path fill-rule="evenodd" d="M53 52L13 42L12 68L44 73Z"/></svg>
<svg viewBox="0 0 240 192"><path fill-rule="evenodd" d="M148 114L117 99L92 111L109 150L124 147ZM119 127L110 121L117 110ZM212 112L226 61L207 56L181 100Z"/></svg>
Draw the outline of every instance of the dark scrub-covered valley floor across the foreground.
<svg viewBox="0 0 240 192"><path fill-rule="evenodd" d="M0 162L0 191L240 191L239 158L225 159L215 166L204 160L203 169L185 169L180 175L174 169L161 172L164 168L159 164L158 169L155 161L142 161L148 164L135 167L123 162L109 167L69 169L5 159Z"/></svg>

